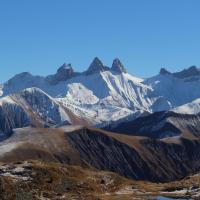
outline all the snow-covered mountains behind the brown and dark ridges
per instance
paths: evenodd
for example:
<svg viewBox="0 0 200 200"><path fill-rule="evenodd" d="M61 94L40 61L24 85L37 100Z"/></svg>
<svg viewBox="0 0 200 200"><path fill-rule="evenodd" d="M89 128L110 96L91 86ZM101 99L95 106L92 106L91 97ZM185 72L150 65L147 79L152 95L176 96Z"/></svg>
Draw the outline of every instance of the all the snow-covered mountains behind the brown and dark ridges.
<svg viewBox="0 0 200 200"><path fill-rule="evenodd" d="M128 74L119 59L109 68L94 58L82 73L75 72L71 64L63 64L46 77L23 72L0 85L0 105L1 113L20 109L26 120L20 120L19 126L12 122L1 130L34 123L103 127L166 110L197 114L199 84L200 70L195 66L176 73L162 68L158 75L141 79ZM33 115L37 122L31 120ZM1 120L7 117L8 112Z"/></svg>

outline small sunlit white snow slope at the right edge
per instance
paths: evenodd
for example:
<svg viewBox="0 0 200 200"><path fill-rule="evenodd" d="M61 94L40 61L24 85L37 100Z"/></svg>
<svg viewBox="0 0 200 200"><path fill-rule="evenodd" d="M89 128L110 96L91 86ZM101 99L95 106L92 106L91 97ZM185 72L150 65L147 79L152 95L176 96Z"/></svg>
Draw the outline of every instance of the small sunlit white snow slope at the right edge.
<svg viewBox="0 0 200 200"><path fill-rule="evenodd" d="M182 114L199 114L200 113L200 98L190 103L174 108L172 111Z"/></svg>

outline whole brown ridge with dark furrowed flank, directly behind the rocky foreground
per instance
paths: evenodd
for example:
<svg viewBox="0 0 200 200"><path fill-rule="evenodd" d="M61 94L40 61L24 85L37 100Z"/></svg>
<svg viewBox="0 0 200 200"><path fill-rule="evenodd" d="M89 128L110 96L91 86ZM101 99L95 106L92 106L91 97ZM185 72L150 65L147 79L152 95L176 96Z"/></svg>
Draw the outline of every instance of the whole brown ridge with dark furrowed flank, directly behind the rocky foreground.
<svg viewBox="0 0 200 200"><path fill-rule="evenodd" d="M92 166L132 179L167 182L199 170L200 142L181 138L179 144L166 143L70 126L18 129L0 143L0 161L29 159Z"/></svg>

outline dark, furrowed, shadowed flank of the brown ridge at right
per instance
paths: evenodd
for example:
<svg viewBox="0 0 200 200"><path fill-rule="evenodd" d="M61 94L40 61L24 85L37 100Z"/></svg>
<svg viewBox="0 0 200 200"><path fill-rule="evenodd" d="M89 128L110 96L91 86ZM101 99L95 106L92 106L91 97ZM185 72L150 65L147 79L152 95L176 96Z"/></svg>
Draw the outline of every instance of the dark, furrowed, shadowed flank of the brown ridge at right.
<svg viewBox="0 0 200 200"><path fill-rule="evenodd" d="M133 179L172 181L200 168L197 139L180 138L179 144L166 143L91 128L76 130L67 137L90 165Z"/></svg>

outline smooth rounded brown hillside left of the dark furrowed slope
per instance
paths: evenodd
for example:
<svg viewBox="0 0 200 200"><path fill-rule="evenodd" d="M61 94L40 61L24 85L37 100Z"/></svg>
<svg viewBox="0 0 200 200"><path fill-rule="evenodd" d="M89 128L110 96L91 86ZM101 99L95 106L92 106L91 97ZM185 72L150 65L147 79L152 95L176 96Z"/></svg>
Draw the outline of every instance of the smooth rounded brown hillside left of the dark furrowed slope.
<svg viewBox="0 0 200 200"><path fill-rule="evenodd" d="M18 129L0 144L15 145L8 152L0 152L0 161L14 162L18 160L38 159L82 165L79 153L71 147L61 129L24 128ZM7 146L5 148L8 148Z"/></svg>

